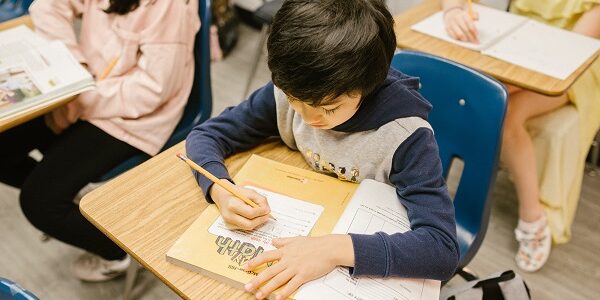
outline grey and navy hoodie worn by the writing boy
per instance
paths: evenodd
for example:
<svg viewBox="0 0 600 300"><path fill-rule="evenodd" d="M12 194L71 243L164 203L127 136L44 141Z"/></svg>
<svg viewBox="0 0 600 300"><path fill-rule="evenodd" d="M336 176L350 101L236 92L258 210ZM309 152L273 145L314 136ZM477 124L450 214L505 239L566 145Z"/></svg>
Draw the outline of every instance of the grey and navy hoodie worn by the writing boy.
<svg viewBox="0 0 600 300"><path fill-rule="evenodd" d="M187 137L186 152L218 178L231 180L225 157L280 136L316 171L341 180L369 178L391 184L406 207L412 231L351 234L351 274L446 280L459 258L454 206L427 123L431 104L418 89L418 78L390 69L349 120L317 129L305 124L287 96L268 83L248 100L196 126ZM211 202L211 181L194 175Z"/></svg>

